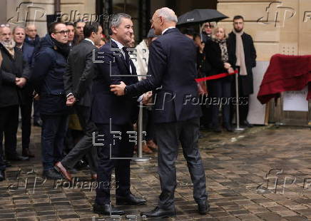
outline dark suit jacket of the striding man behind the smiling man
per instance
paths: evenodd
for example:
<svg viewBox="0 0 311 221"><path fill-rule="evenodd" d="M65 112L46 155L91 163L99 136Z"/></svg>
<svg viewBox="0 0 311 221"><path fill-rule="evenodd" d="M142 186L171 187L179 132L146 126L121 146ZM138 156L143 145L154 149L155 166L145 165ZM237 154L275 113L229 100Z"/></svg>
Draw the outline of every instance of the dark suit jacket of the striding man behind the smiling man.
<svg viewBox="0 0 311 221"><path fill-rule="evenodd" d="M74 46L68 56L66 73L63 75L63 86L66 95L73 93L77 104L91 107L91 89L94 77L93 50L96 46L83 40Z"/></svg>

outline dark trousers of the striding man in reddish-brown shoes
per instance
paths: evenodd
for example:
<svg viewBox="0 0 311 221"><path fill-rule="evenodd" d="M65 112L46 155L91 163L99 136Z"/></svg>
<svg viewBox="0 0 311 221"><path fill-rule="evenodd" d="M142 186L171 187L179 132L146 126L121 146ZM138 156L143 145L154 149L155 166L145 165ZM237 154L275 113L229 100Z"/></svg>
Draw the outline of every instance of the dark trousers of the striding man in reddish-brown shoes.
<svg viewBox="0 0 311 221"><path fill-rule="evenodd" d="M97 128L95 123L90 119L91 108L75 106L75 109L84 135L66 157L61 160L61 164L66 168L73 168L78 160L81 160L86 155L92 173L97 173L97 149L96 146L93 147L93 132L97 134Z"/></svg>

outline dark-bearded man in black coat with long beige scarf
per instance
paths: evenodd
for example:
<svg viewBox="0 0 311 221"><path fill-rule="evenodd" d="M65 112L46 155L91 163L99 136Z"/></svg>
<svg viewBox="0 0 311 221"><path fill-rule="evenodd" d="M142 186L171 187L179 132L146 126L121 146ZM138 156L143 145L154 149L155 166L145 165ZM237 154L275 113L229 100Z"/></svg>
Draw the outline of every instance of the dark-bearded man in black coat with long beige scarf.
<svg viewBox="0 0 311 221"><path fill-rule="evenodd" d="M228 37L230 45L229 60L232 65L239 70L239 97L243 97L243 105L239 106L240 125L252 127L248 123L248 102L249 96L254 92L253 71L256 66L256 50L253 38L244 31L243 16L235 16L233 18L233 31ZM234 87L235 88L235 87ZM233 93L235 94L235 92Z"/></svg>

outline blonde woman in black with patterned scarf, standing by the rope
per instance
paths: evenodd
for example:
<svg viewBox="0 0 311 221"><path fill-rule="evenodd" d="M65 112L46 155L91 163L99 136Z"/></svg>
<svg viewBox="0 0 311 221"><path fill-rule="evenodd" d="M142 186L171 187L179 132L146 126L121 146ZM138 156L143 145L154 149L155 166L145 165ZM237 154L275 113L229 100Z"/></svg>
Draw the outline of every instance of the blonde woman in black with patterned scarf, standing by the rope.
<svg viewBox="0 0 311 221"><path fill-rule="evenodd" d="M208 75L234 72L229 61L228 51L230 51L230 46L228 46L225 29L221 27L215 28L212 40L205 43L205 61L211 67ZM218 119L220 104L223 113L223 126L226 130L233 131L230 123L229 99L231 96L232 79L232 76L226 76L225 78L208 81L208 91L212 106L212 128L217 133L221 132Z"/></svg>

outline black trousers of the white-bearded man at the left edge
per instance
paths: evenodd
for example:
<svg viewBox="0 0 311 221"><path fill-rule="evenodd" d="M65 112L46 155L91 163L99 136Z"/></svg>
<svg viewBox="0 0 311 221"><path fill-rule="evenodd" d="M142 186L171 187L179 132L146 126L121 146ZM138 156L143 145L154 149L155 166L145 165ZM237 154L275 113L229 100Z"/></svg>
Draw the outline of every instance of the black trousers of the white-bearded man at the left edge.
<svg viewBox="0 0 311 221"><path fill-rule="evenodd" d="M0 108L0 133L4 133L6 158L16 155L16 133L19 126L19 106ZM1 150L2 152L2 150ZM3 153L3 152L2 152Z"/></svg>

